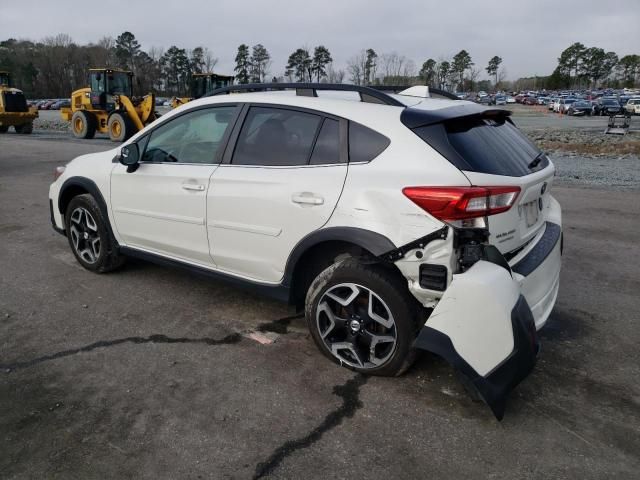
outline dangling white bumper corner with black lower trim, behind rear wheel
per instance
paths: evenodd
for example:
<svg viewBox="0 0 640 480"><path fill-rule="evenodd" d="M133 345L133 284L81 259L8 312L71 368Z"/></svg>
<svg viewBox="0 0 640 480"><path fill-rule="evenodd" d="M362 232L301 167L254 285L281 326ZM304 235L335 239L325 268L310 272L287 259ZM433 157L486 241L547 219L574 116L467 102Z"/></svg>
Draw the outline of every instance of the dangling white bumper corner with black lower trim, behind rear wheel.
<svg viewBox="0 0 640 480"><path fill-rule="evenodd" d="M502 420L508 393L535 365L538 341L510 272L480 260L453 276L415 347L453 365Z"/></svg>

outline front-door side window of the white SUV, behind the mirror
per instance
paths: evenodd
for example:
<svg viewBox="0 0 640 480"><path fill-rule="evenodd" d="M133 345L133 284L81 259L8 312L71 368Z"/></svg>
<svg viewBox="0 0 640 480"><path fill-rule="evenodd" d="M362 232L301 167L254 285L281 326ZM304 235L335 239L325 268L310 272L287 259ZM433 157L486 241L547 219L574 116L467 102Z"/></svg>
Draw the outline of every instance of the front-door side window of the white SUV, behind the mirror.
<svg viewBox="0 0 640 480"><path fill-rule="evenodd" d="M216 163L234 106L205 108L169 120L151 132L142 162Z"/></svg>

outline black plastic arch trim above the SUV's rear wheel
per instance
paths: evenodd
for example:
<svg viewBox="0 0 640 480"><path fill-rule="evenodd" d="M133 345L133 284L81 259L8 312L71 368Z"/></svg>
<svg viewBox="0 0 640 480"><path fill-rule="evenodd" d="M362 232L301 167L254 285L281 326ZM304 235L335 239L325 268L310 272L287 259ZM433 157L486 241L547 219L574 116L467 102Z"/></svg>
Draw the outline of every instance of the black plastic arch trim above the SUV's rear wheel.
<svg viewBox="0 0 640 480"><path fill-rule="evenodd" d="M329 241L352 243L371 252L376 257L395 250L396 248L394 243L384 235L364 228L327 227L315 230L300 240L289 254L282 282L283 285L291 285L296 265L305 252L315 245Z"/></svg>

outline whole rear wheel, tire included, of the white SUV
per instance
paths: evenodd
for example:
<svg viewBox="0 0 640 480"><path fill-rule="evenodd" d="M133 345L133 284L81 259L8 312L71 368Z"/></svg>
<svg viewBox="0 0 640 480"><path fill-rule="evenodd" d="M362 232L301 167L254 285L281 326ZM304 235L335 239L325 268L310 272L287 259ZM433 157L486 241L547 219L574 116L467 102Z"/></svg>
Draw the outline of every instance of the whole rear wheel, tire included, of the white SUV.
<svg viewBox="0 0 640 480"><path fill-rule="evenodd" d="M305 317L325 356L369 375L398 376L411 366L422 309L396 275L349 257L315 278Z"/></svg>

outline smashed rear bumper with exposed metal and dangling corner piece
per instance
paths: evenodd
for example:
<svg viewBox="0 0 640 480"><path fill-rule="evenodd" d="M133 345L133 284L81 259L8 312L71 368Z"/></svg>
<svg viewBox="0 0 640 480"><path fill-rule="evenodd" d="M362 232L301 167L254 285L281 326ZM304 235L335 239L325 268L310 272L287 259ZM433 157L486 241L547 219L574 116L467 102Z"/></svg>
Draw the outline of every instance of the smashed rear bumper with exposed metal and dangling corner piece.
<svg viewBox="0 0 640 480"><path fill-rule="evenodd" d="M486 402L498 420L504 416L510 391L535 366L536 331L547 321L557 298L562 255L559 209L556 217L557 223L547 221L540 237L512 266L486 243L481 230L454 230L452 235L439 230L381 257L398 266L409 291L423 306L433 308L414 346L452 364L465 386ZM425 264L428 285L422 275ZM441 278L436 277L439 272ZM436 285L434 279L442 281Z"/></svg>

